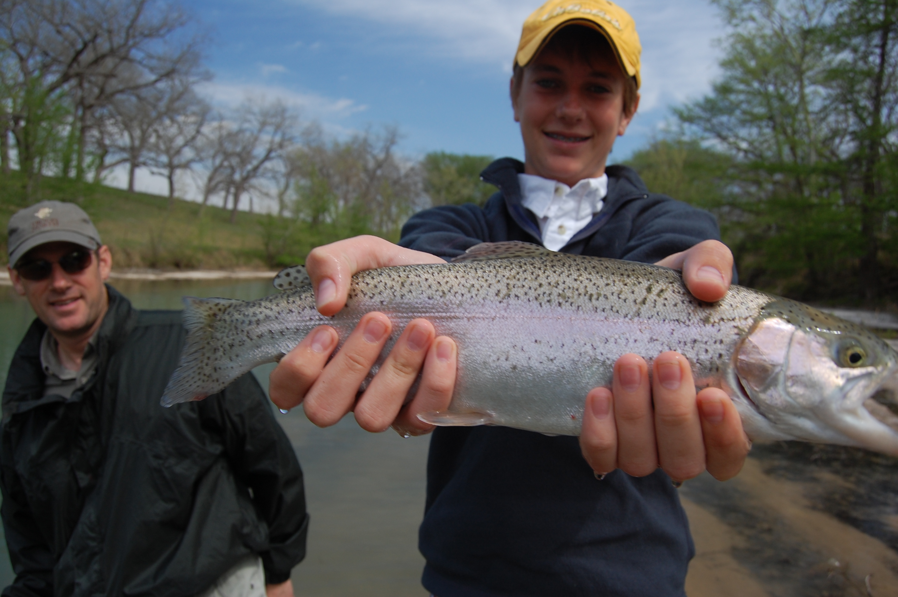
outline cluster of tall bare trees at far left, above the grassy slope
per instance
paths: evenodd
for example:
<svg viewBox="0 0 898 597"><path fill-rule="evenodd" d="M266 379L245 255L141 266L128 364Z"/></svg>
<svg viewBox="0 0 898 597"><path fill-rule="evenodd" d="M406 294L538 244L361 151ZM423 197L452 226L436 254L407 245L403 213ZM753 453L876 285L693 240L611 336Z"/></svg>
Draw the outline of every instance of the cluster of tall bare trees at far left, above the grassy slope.
<svg viewBox="0 0 898 597"><path fill-rule="evenodd" d="M189 22L149 0L0 3L0 168L13 167L10 136L29 196L44 174L99 180L147 165L151 143L163 154L163 135L207 112L193 92L206 78L203 40Z"/></svg>

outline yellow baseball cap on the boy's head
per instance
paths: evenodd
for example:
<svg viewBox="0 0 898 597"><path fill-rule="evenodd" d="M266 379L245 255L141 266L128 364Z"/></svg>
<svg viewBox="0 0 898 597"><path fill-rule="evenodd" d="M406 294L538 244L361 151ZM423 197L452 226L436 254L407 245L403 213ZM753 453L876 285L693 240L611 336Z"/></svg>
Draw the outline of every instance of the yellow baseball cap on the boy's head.
<svg viewBox="0 0 898 597"><path fill-rule="evenodd" d="M540 53L552 35L562 27L582 24L602 33L614 48L623 71L636 77L637 88L642 83L639 78L639 55L642 45L627 11L610 0L549 0L542 4L524 21L521 41L517 45L515 62L527 66Z"/></svg>

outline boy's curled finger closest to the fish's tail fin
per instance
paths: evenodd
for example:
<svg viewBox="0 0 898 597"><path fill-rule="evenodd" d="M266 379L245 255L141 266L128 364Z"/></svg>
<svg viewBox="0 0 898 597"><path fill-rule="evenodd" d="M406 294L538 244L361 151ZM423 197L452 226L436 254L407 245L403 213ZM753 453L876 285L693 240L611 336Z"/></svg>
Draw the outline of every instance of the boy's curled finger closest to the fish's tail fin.
<svg viewBox="0 0 898 597"><path fill-rule="evenodd" d="M269 375L269 397L277 408L301 403L337 347L337 331L319 326L288 352Z"/></svg>

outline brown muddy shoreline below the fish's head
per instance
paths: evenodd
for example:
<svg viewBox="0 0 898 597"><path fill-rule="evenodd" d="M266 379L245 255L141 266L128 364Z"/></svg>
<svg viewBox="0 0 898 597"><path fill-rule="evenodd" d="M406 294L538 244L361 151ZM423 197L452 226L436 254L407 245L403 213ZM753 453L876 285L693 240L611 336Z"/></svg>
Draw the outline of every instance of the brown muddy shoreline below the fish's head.
<svg viewBox="0 0 898 597"><path fill-rule="evenodd" d="M807 443L755 446L720 483L683 484L690 597L898 594L898 460Z"/></svg>

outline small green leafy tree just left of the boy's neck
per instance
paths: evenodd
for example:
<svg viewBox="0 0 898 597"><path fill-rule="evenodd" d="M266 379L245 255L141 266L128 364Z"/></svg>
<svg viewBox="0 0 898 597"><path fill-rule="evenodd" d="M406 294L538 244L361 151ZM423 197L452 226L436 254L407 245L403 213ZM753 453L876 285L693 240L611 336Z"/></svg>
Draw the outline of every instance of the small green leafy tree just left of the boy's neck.
<svg viewBox="0 0 898 597"><path fill-rule="evenodd" d="M434 206L475 203L483 206L496 188L480 180L480 172L492 162L489 155L433 152L424 156L424 192Z"/></svg>

